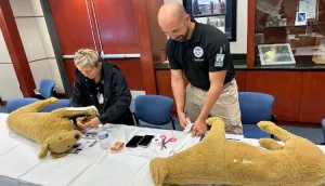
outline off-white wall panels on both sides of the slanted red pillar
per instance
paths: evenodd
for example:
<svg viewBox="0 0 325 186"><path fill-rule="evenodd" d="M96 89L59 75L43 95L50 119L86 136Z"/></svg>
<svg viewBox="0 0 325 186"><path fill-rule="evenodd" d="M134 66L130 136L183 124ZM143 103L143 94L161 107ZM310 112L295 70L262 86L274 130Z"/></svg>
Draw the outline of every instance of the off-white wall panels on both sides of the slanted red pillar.
<svg viewBox="0 0 325 186"><path fill-rule="evenodd" d="M64 93L40 0L10 0L10 3L36 85L42 79L53 79L56 91ZM0 56L0 87L5 88L0 89L0 96L4 101L23 97L2 34Z"/></svg>

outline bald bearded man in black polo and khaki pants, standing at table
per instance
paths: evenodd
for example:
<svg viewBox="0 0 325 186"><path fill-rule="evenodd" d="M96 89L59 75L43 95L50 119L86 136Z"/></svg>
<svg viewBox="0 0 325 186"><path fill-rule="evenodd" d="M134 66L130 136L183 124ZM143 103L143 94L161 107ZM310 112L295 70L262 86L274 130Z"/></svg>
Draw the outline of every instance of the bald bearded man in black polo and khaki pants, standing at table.
<svg viewBox="0 0 325 186"><path fill-rule="evenodd" d="M191 21L179 3L164 4L158 23L170 37L166 50L181 125L185 128L188 117L194 122L192 135L203 135L207 131L205 120L219 116L225 123L226 133L243 134L235 70L226 36L218 28ZM186 90L183 72L190 81Z"/></svg>

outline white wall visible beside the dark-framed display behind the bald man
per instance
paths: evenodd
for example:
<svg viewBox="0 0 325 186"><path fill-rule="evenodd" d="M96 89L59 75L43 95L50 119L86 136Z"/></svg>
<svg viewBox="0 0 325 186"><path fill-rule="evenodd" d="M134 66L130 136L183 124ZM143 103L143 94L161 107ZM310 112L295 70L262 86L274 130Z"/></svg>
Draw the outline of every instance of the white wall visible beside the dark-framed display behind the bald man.
<svg viewBox="0 0 325 186"><path fill-rule="evenodd" d="M183 3L183 0L164 0L168 2ZM231 42L232 54L247 53L247 13L248 0L237 0L237 41Z"/></svg>

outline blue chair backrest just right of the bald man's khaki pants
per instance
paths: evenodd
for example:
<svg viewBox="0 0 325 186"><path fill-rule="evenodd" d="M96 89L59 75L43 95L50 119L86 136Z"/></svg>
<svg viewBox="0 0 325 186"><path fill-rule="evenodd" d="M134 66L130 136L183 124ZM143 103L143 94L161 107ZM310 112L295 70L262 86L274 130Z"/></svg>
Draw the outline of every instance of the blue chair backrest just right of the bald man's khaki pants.
<svg viewBox="0 0 325 186"><path fill-rule="evenodd" d="M274 97L264 93L239 92L239 107L243 124L257 124L259 121L270 121Z"/></svg>

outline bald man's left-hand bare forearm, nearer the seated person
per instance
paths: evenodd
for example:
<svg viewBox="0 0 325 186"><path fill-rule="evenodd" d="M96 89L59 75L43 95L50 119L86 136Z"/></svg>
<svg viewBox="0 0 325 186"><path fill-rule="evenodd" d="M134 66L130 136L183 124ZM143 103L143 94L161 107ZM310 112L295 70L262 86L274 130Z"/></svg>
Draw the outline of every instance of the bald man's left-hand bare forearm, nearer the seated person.
<svg viewBox="0 0 325 186"><path fill-rule="evenodd" d="M176 105L177 105L177 111L178 112L183 112L184 111L184 97L185 97L185 89L184 89L184 80L174 80L171 81L171 88L172 88L172 93L173 97L176 99Z"/></svg>

